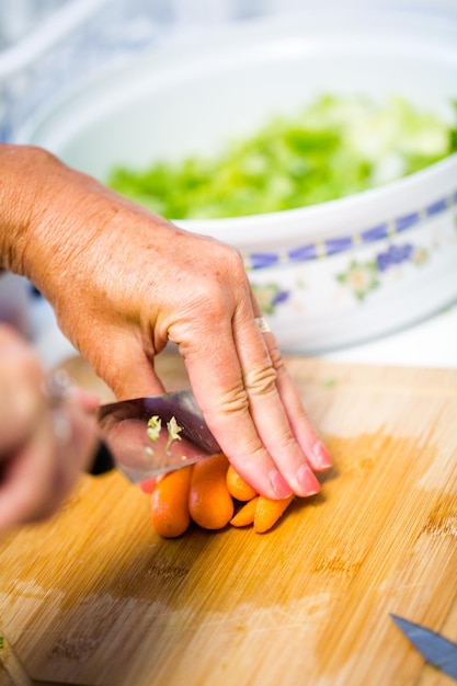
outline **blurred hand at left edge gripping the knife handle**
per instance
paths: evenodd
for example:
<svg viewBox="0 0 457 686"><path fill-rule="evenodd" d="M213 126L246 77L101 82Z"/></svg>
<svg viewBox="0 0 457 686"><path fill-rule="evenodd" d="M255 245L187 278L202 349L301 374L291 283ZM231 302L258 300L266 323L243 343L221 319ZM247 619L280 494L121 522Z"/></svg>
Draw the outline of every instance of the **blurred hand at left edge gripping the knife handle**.
<svg viewBox="0 0 457 686"><path fill-rule="evenodd" d="M0 325L0 534L53 514L95 449L96 400L75 396L52 408L34 350Z"/></svg>

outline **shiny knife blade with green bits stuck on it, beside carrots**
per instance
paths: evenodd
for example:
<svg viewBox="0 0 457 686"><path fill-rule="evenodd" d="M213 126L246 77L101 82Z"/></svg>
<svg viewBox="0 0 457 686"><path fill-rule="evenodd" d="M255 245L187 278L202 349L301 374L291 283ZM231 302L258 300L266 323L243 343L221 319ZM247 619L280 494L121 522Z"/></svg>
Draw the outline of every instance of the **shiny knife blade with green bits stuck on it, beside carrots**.
<svg viewBox="0 0 457 686"><path fill-rule="evenodd" d="M161 420L157 442L147 433L155 415ZM180 431L170 442L167 424L172 418ZM221 451L190 390L101 405L98 423L115 466L134 483Z"/></svg>

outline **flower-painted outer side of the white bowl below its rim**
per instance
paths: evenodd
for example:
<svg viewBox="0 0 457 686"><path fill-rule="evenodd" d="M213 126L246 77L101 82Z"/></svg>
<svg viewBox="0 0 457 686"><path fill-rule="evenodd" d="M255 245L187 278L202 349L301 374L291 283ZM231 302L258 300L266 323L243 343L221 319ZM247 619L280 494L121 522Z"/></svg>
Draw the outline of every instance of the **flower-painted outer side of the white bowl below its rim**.
<svg viewBox="0 0 457 686"><path fill-rule="evenodd" d="M384 334L455 301L457 207L448 201L439 207L415 213L421 220L410 224L408 239L402 226L376 240L374 232L370 241L353 240L352 250L322 254L321 249L318 258L316 249L313 259L302 253L301 261L288 262L283 253L281 264L272 260L270 266L248 270L283 350L319 353L329 350L327 341L334 347ZM436 281L439 295L430 287Z"/></svg>

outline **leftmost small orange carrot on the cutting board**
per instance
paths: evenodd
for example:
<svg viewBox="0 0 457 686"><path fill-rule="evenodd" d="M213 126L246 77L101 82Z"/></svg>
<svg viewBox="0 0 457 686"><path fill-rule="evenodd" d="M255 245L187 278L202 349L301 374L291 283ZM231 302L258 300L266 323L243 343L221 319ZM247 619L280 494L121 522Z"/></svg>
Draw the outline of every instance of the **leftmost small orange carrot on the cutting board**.
<svg viewBox="0 0 457 686"><path fill-rule="evenodd" d="M191 524L188 492L193 466L183 467L165 475L151 493L151 522L156 531L164 538L176 538Z"/></svg>

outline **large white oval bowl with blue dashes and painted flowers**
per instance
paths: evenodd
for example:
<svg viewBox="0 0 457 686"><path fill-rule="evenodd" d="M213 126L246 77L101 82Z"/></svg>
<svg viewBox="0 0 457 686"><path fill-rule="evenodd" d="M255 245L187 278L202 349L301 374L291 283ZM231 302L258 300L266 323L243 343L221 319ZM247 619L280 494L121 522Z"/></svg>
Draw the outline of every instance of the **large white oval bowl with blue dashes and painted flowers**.
<svg viewBox="0 0 457 686"><path fill-rule="evenodd" d="M329 92L401 94L449 118L457 25L362 10L247 22L101 73L48 103L19 140L104 181L114 164L210 152ZM236 245L281 347L319 353L410 325L457 298L456 204L454 155L340 201L176 224Z"/></svg>

